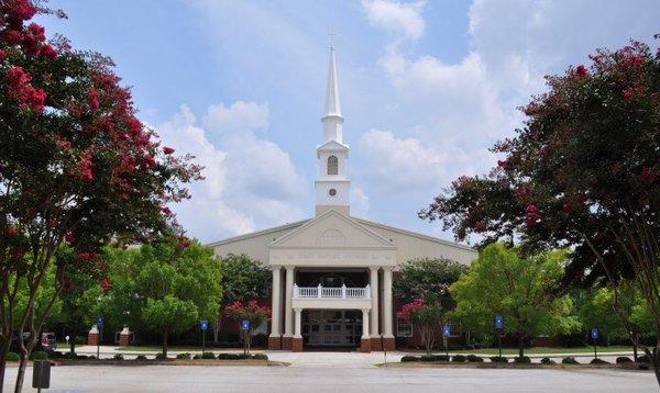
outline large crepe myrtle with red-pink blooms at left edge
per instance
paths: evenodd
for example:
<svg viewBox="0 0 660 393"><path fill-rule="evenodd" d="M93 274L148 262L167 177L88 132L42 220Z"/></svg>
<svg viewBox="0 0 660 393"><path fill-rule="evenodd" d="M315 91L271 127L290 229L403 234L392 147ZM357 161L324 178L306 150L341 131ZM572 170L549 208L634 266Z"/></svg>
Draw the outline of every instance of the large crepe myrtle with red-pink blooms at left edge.
<svg viewBox="0 0 660 393"><path fill-rule="evenodd" d="M72 263L94 263L110 239L135 242L167 228L166 203L187 198L180 184L199 179L189 156L173 155L135 116L131 93L112 63L46 40L31 23L43 2L0 2L0 384L12 328L25 360L65 285ZM61 13L62 14L62 13ZM35 295L56 266L42 315ZM29 293L15 313L19 288Z"/></svg>

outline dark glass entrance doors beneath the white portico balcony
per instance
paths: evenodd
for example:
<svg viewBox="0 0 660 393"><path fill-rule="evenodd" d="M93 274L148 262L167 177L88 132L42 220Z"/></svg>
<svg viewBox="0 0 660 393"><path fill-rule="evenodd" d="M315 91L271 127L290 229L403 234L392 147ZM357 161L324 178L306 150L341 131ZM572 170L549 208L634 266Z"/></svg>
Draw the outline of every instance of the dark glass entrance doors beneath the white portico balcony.
<svg viewBox="0 0 660 393"><path fill-rule="evenodd" d="M302 313L302 340L310 346L356 346L362 336L362 312L308 310Z"/></svg>

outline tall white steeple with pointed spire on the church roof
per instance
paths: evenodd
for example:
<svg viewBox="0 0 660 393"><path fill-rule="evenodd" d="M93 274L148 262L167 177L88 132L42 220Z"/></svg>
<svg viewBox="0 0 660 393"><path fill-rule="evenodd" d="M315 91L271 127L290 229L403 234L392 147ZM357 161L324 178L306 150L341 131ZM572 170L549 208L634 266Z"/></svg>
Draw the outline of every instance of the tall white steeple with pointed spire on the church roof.
<svg viewBox="0 0 660 393"><path fill-rule="evenodd" d="M343 143L343 117L339 105L339 87L334 48L330 47L326 113L321 117L323 141L317 147L320 173L315 181L317 215L328 209L349 214L351 181L346 178L349 146Z"/></svg>

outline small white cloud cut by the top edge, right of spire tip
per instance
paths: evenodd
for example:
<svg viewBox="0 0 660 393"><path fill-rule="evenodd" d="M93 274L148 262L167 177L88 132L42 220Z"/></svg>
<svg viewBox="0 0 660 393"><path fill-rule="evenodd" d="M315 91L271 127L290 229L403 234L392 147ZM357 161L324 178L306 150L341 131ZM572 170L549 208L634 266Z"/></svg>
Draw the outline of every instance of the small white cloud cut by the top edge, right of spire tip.
<svg viewBox="0 0 660 393"><path fill-rule="evenodd" d="M391 0L363 0L366 18L374 26L383 27L398 36L417 40L424 34L421 18L424 1L403 3Z"/></svg>

